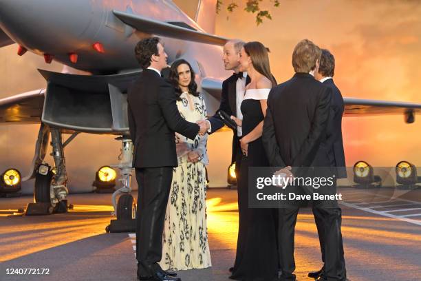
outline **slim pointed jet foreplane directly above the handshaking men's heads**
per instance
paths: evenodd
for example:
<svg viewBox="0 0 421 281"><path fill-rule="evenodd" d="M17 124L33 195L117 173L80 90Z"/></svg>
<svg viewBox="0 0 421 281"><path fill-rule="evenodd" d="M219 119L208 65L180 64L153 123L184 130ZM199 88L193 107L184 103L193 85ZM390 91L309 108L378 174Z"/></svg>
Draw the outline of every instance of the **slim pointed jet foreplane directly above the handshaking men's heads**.
<svg viewBox="0 0 421 281"><path fill-rule="evenodd" d="M224 37L218 37L213 34L199 32L190 26L180 26L175 23L166 23L164 21L156 21L155 19L149 19L142 17L138 14L129 14L127 12L120 12L113 10L113 13L122 22L130 25L136 30L146 32L149 34L156 34L164 37L170 37L175 39L181 39L186 41L194 41L212 45L224 45L228 39Z"/></svg>

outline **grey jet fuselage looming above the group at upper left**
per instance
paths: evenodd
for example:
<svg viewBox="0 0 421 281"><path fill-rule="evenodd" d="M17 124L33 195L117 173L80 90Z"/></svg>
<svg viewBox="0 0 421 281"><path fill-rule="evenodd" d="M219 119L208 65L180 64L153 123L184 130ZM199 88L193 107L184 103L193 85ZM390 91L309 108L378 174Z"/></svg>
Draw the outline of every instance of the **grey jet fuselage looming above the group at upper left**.
<svg viewBox="0 0 421 281"><path fill-rule="evenodd" d="M30 52L49 54L55 61L78 70L115 74L137 69L134 46L153 34L131 28L113 10L186 23L202 31L172 1L166 0L0 0L0 28ZM183 57L193 64L199 76L227 76L222 71L221 47L166 37L162 41L169 62ZM100 43L105 52L95 50L95 43ZM69 54L77 55L76 63L70 61Z"/></svg>

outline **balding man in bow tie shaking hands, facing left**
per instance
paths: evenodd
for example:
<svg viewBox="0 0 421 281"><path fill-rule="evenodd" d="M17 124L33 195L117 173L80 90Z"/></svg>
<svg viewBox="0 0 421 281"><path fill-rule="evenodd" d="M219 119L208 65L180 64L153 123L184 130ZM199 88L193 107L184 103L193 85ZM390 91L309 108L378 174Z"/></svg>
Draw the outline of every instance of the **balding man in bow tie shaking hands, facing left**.
<svg viewBox="0 0 421 281"><path fill-rule="evenodd" d="M243 114L241 114L241 102L244 98L245 87L248 83L250 83L250 77L245 72L239 72L239 54L243 46L244 41L240 40L230 40L224 45L222 60L224 61L225 70L232 70L234 73L222 82L221 104L219 105L219 110L226 112L228 116L235 116L239 119L243 118ZM203 123L206 124L208 128L208 134L212 134L218 129L224 127L224 121L222 121L222 118L217 113L214 116L209 117L206 121L203 121ZM237 182L239 176L241 176L239 174L239 169L241 167L241 146L239 140L241 136L241 127L237 127L237 131L233 132L233 149L231 152L231 163L235 162L235 175ZM246 227L246 222L241 220L241 214L243 213L241 210L248 207L248 202L243 202L244 200L241 200L241 198L244 198L244 194L241 189L237 188L237 192L239 227ZM235 258L236 263L238 262L238 259L242 257L241 245L241 237L238 237L237 255ZM230 267L229 271L233 272L234 267Z"/></svg>

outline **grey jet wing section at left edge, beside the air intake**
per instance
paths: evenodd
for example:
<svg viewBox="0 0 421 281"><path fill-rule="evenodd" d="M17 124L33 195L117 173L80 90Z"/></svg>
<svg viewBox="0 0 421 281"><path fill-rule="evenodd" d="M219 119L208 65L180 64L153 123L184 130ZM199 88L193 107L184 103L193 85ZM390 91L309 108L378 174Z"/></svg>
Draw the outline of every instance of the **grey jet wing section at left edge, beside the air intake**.
<svg viewBox="0 0 421 281"><path fill-rule="evenodd" d="M0 123L40 123L44 94L40 89L0 99Z"/></svg>

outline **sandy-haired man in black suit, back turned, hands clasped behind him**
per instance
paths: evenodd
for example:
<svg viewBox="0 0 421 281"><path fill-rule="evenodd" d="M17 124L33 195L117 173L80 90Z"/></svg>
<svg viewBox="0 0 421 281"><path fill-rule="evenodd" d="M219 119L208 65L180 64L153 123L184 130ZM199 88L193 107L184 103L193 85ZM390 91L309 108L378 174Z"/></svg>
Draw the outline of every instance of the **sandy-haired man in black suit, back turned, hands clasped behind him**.
<svg viewBox="0 0 421 281"><path fill-rule="evenodd" d="M301 176L307 167L332 167L327 156L327 131L330 123L332 89L314 79L321 50L307 39L300 41L292 54L296 72L292 79L272 88L263 123L263 145L271 166L285 167ZM291 168L292 167L292 168ZM344 280L340 259L341 230L337 202L313 202L324 223L325 272L319 280ZM294 228L299 207L279 209L279 260L281 280L295 280Z"/></svg>

